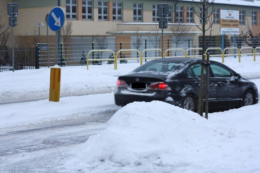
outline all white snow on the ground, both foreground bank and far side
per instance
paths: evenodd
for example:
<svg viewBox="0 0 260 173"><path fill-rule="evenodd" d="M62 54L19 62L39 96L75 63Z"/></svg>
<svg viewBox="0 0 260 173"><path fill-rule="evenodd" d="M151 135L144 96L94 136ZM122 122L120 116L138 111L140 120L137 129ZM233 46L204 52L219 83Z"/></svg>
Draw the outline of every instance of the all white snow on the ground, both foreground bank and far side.
<svg viewBox="0 0 260 173"><path fill-rule="evenodd" d="M211 60L221 62L221 58ZM228 57L224 64L243 77L260 77L260 56L255 62L252 56L241 57L240 63ZM160 101L134 102L123 108L114 105L117 76L138 66L118 64L117 70L113 64L91 65L89 70L86 66L62 67L59 102L48 99L50 69L0 72L0 103L9 103L0 105L0 129L69 120L100 108L118 109L103 132L66 151L69 157L55 170L260 172L260 103L211 113L208 120ZM260 90L260 79L252 81ZM17 102L35 99L42 100Z"/></svg>

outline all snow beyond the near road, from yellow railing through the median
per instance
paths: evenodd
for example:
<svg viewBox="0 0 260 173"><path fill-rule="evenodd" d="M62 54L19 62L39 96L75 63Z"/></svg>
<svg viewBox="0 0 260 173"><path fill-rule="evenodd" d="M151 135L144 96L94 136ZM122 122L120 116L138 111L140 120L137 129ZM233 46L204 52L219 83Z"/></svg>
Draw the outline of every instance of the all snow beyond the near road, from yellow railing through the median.
<svg viewBox="0 0 260 173"><path fill-rule="evenodd" d="M221 58L215 59L221 61ZM240 63L237 58L225 58L225 64L233 66L237 72L248 76L260 75L259 63L260 56L256 62L253 61L253 58L241 58ZM86 66L62 67L61 95L65 91L68 91L67 93L70 95L85 95L61 97L59 102L44 99L0 104L0 128L77 118L103 109L120 109L114 104L114 93L112 92L117 76L130 72L138 66L139 63L118 64L118 70L114 70L114 66L111 64L92 65L89 70L86 70ZM0 99L9 101L17 97L32 99L41 95L47 96L49 94L49 73L50 69L1 72ZM252 81L260 88L259 79L252 79ZM95 94L103 92L107 93Z"/></svg>

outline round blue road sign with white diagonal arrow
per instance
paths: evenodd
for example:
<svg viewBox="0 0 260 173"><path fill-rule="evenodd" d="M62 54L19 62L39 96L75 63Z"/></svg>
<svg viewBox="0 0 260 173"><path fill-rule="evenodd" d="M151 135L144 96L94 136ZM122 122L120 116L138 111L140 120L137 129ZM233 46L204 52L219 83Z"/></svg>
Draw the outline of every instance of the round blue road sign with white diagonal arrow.
<svg viewBox="0 0 260 173"><path fill-rule="evenodd" d="M65 14L62 8L54 7L49 14L48 24L51 30L58 31L65 21Z"/></svg>

